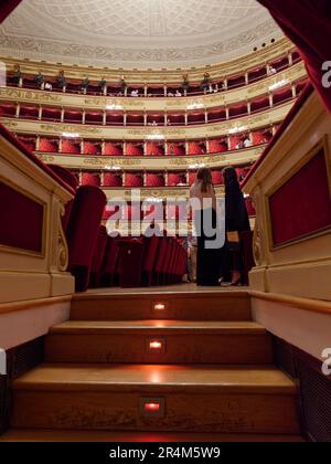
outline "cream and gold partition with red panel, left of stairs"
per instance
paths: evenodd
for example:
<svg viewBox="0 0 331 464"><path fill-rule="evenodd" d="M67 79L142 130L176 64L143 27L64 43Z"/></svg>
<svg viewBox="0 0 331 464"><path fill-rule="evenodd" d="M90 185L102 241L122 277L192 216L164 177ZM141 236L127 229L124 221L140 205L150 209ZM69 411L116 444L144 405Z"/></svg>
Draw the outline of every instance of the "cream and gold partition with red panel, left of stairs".
<svg viewBox="0 0 331 464"><path fill-rule="evenodd" d="M0 125L0 303L74 292L61 223L73 194Z"/></svg>

